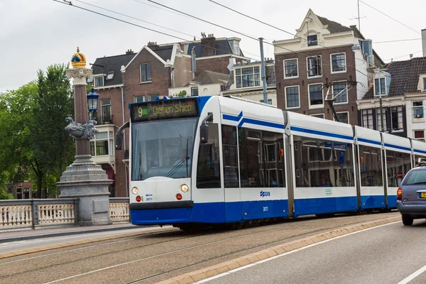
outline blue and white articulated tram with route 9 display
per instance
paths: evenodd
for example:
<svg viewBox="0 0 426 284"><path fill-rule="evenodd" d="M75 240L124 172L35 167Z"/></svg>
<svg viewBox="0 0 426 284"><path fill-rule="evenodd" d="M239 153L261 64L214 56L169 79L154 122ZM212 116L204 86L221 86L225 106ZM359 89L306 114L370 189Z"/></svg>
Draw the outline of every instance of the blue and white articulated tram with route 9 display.
<svg viewBox="0 0 426 284"><path fill-rule="evenodd" d="M426 156L418 141L244 99L158 98L129 108L133 224L389 209L401 175Z"/></svg>

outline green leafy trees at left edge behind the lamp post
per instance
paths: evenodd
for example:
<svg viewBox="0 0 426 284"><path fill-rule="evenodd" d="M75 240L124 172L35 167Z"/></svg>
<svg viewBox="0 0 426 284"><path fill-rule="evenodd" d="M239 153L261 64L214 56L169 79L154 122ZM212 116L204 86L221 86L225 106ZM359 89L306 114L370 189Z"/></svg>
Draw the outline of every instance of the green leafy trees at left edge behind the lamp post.
<svg viewBox="0 0 426 284"><path fill-rule="evenodd" d="M75 155L75 143L65 131L65 118L74 114L66 69L51 65L38 71L35 82L0 95L0 177L8 177L0 178L0 188L5 182L33 180L36 198L58 191L55 182Z"/></svg>

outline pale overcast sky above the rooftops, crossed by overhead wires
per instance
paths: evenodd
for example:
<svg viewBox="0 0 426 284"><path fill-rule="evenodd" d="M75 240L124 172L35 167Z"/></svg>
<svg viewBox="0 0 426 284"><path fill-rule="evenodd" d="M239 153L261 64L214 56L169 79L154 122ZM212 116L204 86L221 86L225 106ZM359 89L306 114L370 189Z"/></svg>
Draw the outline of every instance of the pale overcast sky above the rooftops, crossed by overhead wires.
<svg viewBox="0 0 426 284"><path fill-rule="evenodd" d="M155 1L255 38L263 37L268 42L293 38L292 35L252 21L208 0ZM308 9L344 26L358 25L356 19L351 19L357 16L356 0L217 1L290 33L295 33L295 29L300 27ZM373 48L383 60L386 62L391 58L407 60L410 53L413 53L414 57L422 56L421 40L375 42L420 38L420 31L426 28L424 0L363 1L415 30L360 2L360 14L361 17L365 17L361 18L361 33L373 40ZM82 2L173 28L187 35L126 18ZM194 35L200 37L201 32L214 33L217 38L236 36L241 38L241 50L246 56L258 59L260 55L258 42L250 38L177 13L170 13L164 8L159 9L148 0L73 0L72 4L187 40L192 40ZM148 41L156 41L158 44L182 41L53 0L0 0L0 27L0 93L7 89L17 89L35 80L39 69L45 70L48 65L54 63L69 62L77 46L80 47L80 52L86 55L88 63L93 63L96 58L123 54L128 49L137 52ZM265 56L273 58L271 45L265 45Z"/></svg>

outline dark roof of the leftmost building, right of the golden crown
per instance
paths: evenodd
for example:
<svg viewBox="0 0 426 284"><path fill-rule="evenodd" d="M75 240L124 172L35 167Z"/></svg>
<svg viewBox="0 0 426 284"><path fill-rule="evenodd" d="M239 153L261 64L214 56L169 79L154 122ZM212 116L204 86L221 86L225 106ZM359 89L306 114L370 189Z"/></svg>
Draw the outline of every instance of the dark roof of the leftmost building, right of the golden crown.
<svg viewBox="0 0 426 284"><path fill-rule="evenodd" d="M108 75L108 72L114 72L112 80L105 80L104 86L113 86L116 84L123 83L123 77L121 77L121 66L126 66L135 57L136 53L114 55L104 58L97 58L92 65L93 75L104 74Z"/></svg>

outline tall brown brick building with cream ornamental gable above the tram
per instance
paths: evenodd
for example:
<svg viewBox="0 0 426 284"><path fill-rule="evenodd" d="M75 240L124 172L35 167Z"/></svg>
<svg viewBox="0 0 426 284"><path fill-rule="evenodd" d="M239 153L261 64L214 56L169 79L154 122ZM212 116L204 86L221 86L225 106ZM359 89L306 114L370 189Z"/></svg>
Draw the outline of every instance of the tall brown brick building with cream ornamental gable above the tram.
<svg viewBox="0 0 426 284"><path fill-rule="evenodd" d="M372 80L371 66L383 65L371 40L356 26L342 26L311 9L296 32L293 39L274 42L278 107L333 120L324 84L334 82L329 91L340 93L334 102L339 121L358 125L356 100ZM346 92L347 81L361 84Z"/></svg>

